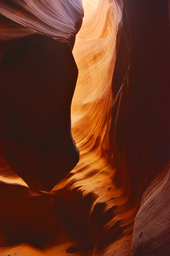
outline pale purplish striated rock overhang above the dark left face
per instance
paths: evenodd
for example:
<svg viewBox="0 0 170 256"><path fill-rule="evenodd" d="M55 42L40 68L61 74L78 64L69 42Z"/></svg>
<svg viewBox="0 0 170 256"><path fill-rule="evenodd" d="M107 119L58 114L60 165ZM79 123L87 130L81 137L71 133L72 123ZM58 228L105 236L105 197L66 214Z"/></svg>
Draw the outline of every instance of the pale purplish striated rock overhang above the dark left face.
<svg viewBox="0 0 170 256"><path fill-rule="evenodd" d="M38 32L66 41L75 34L75 23L83 18L84 12L81 0L4 0L0 14L1 40Z"/></svg>

